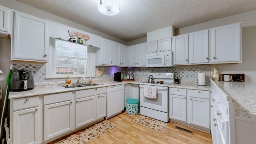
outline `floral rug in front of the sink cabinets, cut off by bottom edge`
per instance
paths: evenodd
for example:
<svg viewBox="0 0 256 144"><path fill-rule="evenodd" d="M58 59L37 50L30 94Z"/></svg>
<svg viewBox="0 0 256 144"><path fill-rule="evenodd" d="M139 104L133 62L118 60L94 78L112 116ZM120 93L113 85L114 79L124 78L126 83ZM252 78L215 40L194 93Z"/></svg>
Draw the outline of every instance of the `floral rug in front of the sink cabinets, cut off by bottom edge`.
<svg viewBox="0 0 256 144"><path fill-rule="evenodd" d="M78 130L72 134L63 136L62 138L58 138L48 144L84 144L114 127L114 124L108 120L104 120L94 124L93 126Z"/></svg>

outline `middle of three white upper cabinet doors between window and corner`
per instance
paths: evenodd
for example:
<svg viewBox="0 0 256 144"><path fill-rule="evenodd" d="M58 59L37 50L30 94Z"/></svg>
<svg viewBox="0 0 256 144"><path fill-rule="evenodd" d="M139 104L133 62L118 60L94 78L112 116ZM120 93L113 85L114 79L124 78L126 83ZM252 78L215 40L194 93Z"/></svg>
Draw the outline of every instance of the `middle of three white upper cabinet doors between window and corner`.
<svg viewBox="0 0 256 144"><path fill-rule="evenodd" d="M121 44L117 42L112 42L112 65L121 66Z"/></svg>

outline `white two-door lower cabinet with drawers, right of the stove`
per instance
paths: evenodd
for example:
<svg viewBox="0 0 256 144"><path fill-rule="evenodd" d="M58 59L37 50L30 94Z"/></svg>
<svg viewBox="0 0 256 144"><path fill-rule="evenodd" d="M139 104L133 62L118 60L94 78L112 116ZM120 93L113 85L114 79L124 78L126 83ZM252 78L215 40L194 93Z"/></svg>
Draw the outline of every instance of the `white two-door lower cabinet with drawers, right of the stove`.
<svg viewBox="0 0 256 144"><path fill-rule="evenodd" d="M171 121L203 127L210 131L210 92L170 88L169 113ZM185 122L185 123L183 123ZM205 129L206 128L206 129Z"/></svg>

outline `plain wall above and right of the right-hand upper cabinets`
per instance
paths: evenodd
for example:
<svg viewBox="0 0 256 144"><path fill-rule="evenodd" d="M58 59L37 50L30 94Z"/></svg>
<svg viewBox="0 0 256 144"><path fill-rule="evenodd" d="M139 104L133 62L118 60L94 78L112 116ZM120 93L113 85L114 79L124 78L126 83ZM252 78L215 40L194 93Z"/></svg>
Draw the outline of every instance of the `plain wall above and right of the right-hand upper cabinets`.
<svg viewBox="0 0 256 144"><path fill-rule="evenodd" d="M245 74L245 81L256 81L256 10L195 24L175 30L175 35L242 22L242 63L212 64L220 74Z"/></svg>

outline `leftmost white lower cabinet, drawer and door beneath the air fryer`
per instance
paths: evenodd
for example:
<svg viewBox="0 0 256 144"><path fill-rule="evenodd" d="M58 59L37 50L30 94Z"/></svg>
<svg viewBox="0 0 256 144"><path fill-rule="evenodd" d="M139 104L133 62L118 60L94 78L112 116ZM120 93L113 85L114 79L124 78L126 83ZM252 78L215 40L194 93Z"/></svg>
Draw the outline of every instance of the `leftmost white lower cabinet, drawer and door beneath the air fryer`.
<svg viewBox="0 0 256 144"><path fill-rule="evenodd" d="M38 144L41 131L39 125L39 96L10 101L10 138L12 144ZM12 127L11 127L12 125Z"/></svg>

